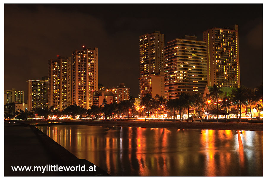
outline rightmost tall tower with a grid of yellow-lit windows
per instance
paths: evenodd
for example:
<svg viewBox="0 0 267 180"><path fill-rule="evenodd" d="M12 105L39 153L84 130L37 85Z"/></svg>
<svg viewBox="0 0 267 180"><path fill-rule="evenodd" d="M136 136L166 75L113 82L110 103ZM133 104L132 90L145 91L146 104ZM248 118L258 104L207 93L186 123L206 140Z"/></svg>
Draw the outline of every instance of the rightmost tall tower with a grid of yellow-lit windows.
<svg viewBox="0 0 267 180"><path fill-rule="evenodd" d="M240 87L238 25L203 32L207 44L208 86Z"/></svg>

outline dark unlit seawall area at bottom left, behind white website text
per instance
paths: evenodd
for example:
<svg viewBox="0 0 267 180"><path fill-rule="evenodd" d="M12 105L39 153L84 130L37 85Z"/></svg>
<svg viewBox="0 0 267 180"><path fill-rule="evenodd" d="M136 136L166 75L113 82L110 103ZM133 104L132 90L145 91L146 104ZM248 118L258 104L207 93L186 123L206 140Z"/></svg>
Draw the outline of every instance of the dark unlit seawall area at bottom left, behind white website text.
<svg viewBox="0 0 267 180"><path fill-rule="evenodd" d="M42 131L24 123L4 123L4 176L109 176L96 166L96 172L14 172L11 166L83 166L93 163L79 159Z"/></svg>

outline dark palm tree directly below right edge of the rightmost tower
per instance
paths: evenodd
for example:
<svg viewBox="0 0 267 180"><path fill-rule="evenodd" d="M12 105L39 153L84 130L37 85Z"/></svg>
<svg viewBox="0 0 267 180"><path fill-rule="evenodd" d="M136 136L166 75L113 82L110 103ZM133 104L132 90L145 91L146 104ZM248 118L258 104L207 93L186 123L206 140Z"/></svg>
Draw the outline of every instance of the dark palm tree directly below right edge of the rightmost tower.
<svg viewBox="0 0 267 180"><path fill-rule="evenodd" d="M241 107L242 107L242 104L245 104L247 101L244 87L241 86L240 88L232 89L231 95L232 95L232 100L237 102L237 112L238 112L238 108L240 105L240 112L239 112L240 116L239 116L239 120L237 120L237 122L240 122L241 121Z"/></svg>

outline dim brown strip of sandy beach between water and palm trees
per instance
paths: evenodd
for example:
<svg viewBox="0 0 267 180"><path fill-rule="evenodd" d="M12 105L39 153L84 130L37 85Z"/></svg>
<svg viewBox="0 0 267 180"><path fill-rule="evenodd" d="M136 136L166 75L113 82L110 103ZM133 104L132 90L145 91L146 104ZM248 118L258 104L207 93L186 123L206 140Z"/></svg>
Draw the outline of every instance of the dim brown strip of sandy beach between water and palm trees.
<svg viewBox="0 0 267 180"><path fill-rule="evenodd" d="M120 126L146 128L182 128L182 129L211 129L211 130L253 130L263 131L263 123L251 122L187 122L187 121L21 121L23 123L42 123L40 125L89 125L89 126ZM45 123L47 122L47 124ZM52 123L51 123L52 122ZM45 123L45 124L44 124Z"/></svg>

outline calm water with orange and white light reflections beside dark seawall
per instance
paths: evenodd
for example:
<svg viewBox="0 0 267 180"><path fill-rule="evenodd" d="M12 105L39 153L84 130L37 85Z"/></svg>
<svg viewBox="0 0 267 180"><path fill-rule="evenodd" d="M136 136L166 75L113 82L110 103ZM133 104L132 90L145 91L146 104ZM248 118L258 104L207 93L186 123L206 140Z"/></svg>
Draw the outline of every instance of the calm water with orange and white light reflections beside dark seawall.
<svg viewBox="0 0 267 180"><path fill-rule="evenodd" d="M112 176L263 176L263 131L38 126Z"/></svg>

